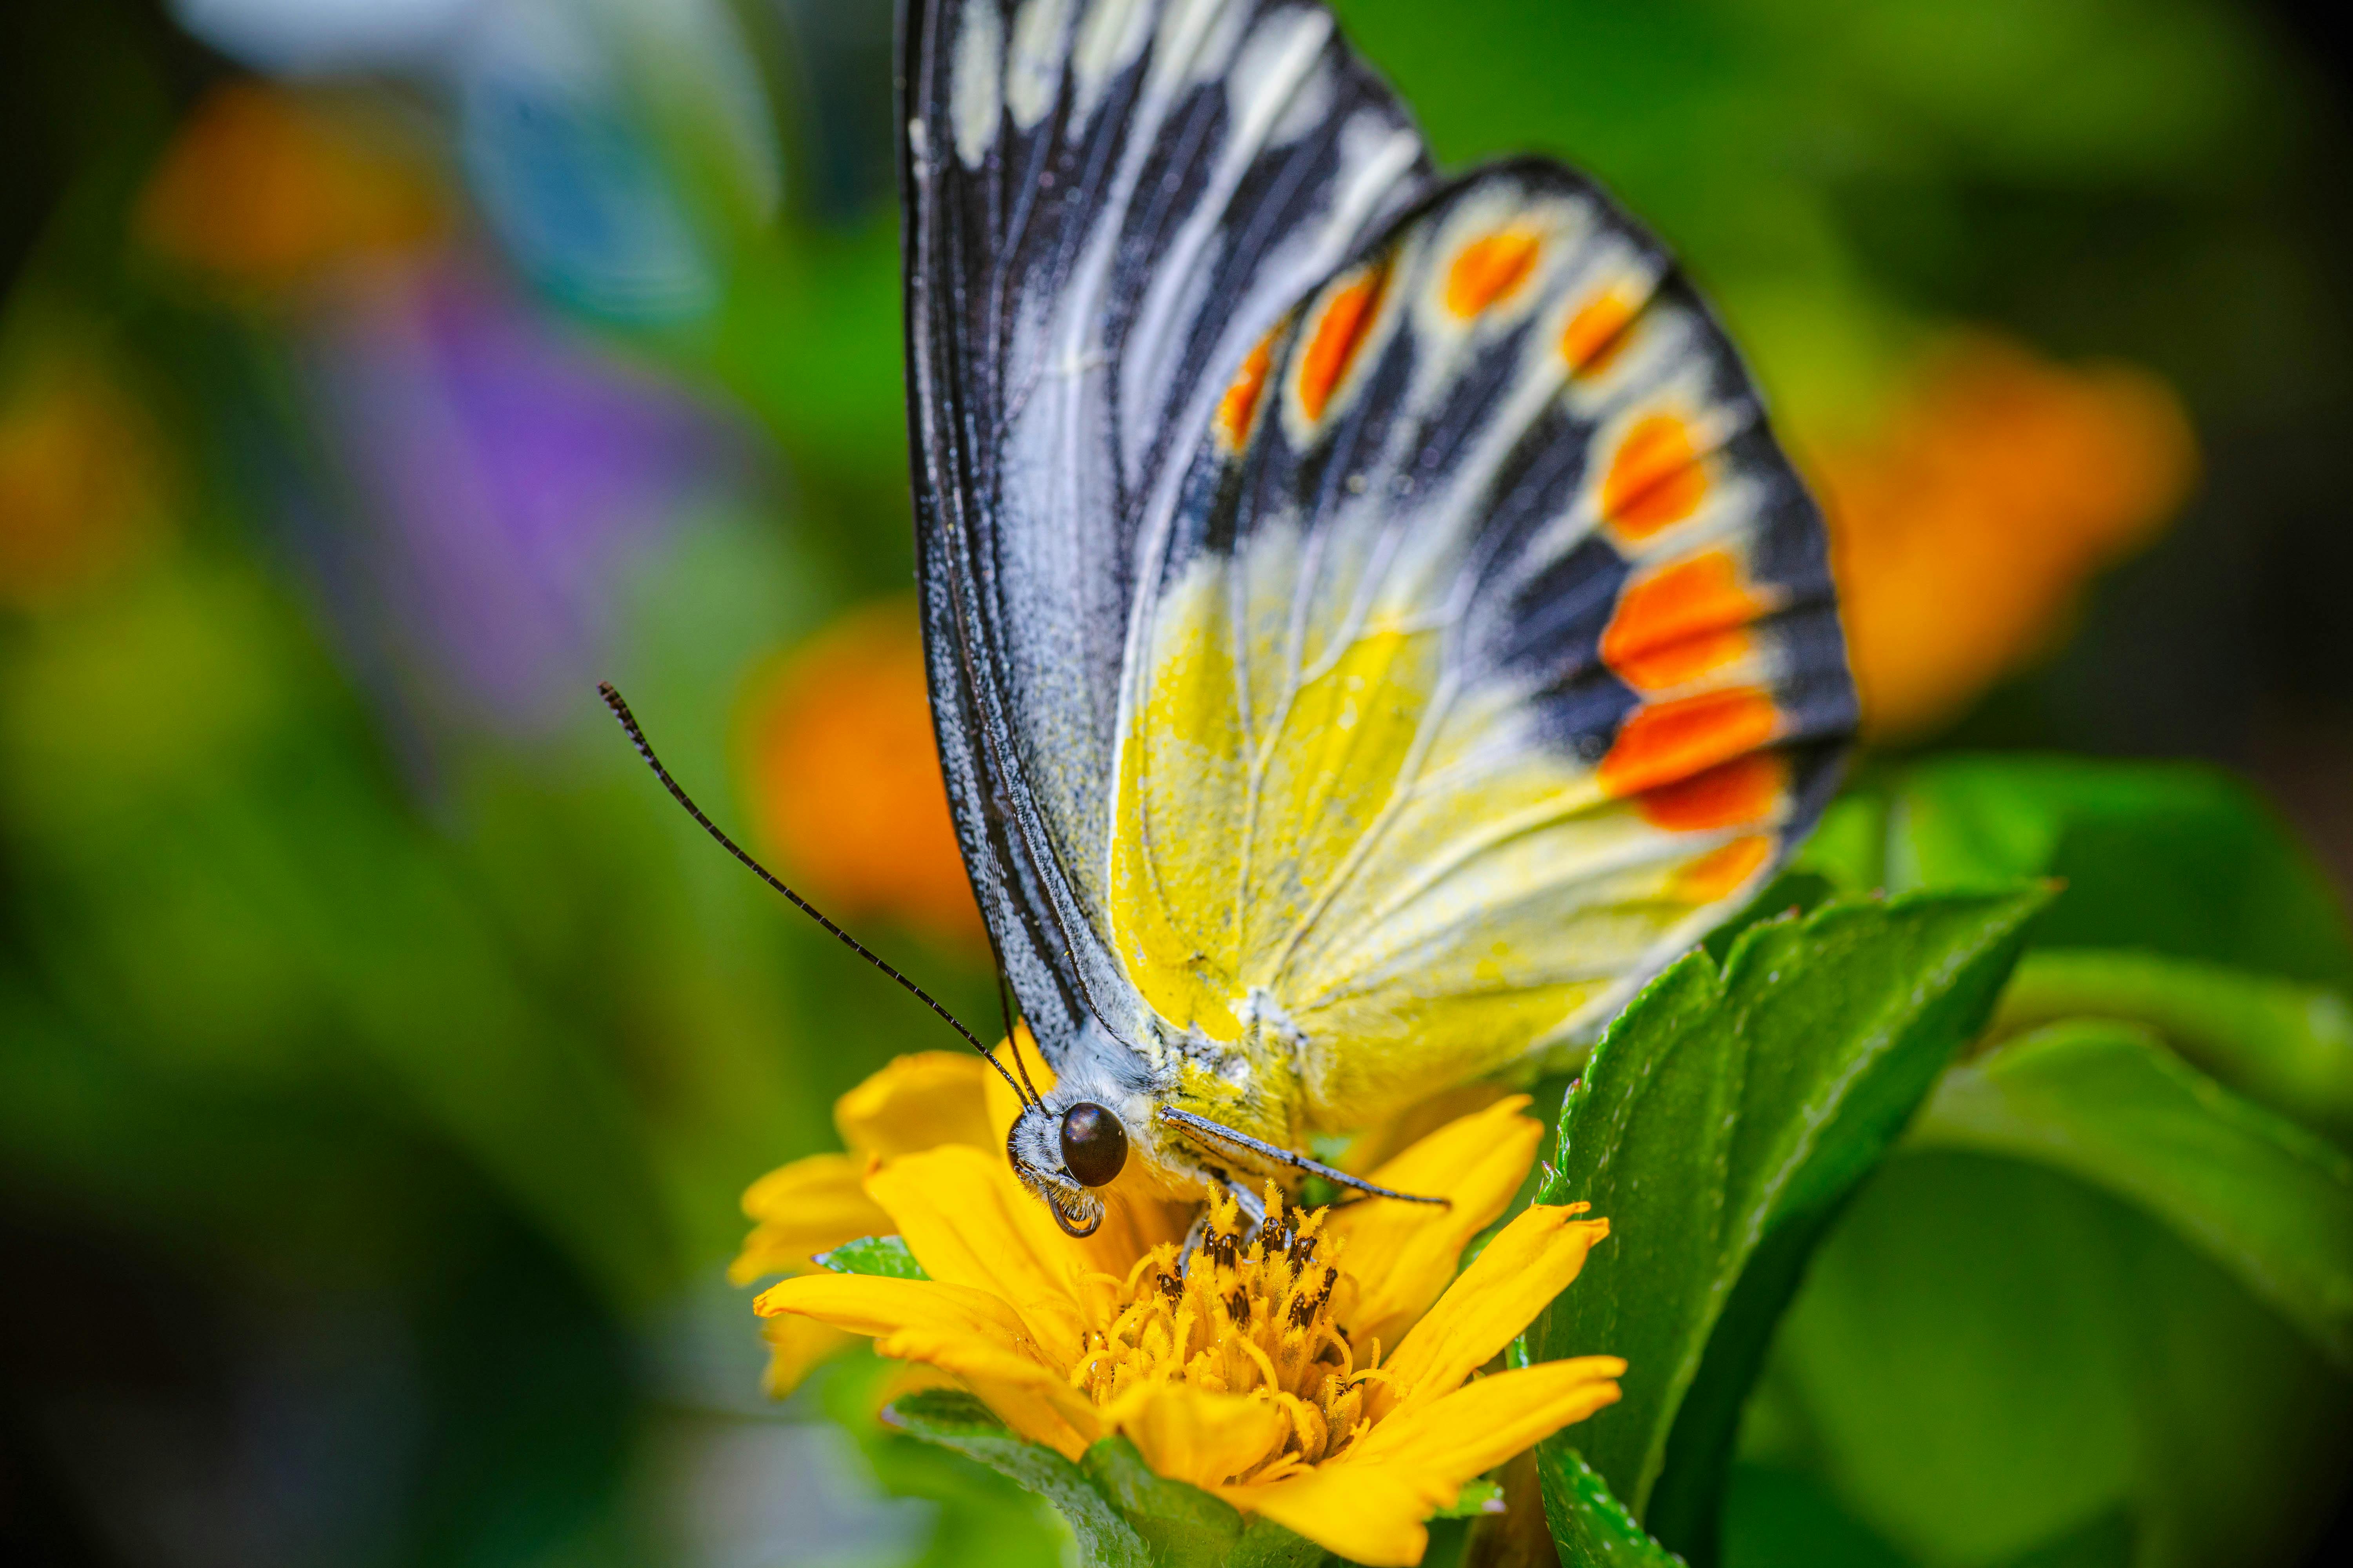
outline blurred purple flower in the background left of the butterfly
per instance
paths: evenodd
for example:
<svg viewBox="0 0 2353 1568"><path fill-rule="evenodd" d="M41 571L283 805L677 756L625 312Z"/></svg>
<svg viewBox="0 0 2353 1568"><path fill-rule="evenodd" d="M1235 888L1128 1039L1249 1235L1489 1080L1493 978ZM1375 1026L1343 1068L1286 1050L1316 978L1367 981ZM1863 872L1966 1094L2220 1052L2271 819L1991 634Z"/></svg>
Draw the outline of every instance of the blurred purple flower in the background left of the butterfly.
<svg viewBox="0 0 2353 1568"><path fill-rule="evenodd" d="M355 277L304 360L355 524L320 541L336 618L435 717L576 717L631 562L746 480L722 416L459 261Z"/></svg>

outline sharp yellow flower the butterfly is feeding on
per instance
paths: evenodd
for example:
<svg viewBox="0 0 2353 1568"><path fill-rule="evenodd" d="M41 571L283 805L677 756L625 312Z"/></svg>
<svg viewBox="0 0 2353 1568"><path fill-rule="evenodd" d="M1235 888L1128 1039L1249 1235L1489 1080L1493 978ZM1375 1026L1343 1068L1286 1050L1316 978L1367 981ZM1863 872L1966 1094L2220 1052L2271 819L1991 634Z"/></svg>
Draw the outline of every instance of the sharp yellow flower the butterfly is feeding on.
<svg viewBox="0 0 2353 1568"><path fill-rule="evenodd" d="M1511 1201L1541 1128L1513 1095L1421 1138L1374 1180L1449 1208L1278 1208L1242 1237L1231 1199L1186 1267L1193 1208L1115 1185L1066 1237L998 1147L875 1161L866 1197L929 1279L805 1274L758 1300L951 1373L1066 1458L1125 1434L1162 1476L1360 1563L1417 1563L1464 1481L1619 1396L1614 1356L1473 1378L1609 1234L1537 1206L1454 1276ZM1449 1284L1452 1281L1452 1284Z"/></svg>

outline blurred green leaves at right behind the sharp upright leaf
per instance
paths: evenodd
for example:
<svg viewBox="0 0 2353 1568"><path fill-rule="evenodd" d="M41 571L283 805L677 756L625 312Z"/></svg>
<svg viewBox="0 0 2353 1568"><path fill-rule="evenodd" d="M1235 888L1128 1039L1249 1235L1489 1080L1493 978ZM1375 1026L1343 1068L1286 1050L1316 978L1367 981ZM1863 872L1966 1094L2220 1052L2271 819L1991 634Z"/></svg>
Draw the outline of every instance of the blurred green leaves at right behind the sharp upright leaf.
<svg viewBox="0 0 2353 1568"><path fill-rule="evenodd" d="M2122 1561L2097 1519L2134 1563L2289 1561L2315 1455L2353 1434L2353 945L2318 872L2217 773L2042 757L1871 778L1802 865L2061 886L1826 1241L1748 1410L1767 1469L1744 1476L1812 1476L1889 1561L2068 1540L2089 1556L2066 1561ZM1739 1483L1732 1516L1727 1561L1758 1559Z"/></svg>

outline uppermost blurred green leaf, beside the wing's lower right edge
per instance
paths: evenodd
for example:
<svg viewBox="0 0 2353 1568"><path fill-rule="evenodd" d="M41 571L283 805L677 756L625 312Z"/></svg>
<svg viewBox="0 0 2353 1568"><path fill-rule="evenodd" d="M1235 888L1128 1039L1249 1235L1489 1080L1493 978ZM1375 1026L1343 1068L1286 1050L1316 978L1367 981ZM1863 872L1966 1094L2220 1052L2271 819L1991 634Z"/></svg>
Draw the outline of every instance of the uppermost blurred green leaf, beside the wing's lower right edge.
<svg viewBox="0 0 2353 1568"><path fill-rule="evenodd" d="M2035 947L2139 947L2353 990L2353 936L2327 877L2252 790L2214 769L1946 757L1899 773L1875 813L1878 882L1892 891L2064 882ZM1845 837L1800 865L1833 877L1866 867L1852 837L1871 816L1842 804Z"/></svg>

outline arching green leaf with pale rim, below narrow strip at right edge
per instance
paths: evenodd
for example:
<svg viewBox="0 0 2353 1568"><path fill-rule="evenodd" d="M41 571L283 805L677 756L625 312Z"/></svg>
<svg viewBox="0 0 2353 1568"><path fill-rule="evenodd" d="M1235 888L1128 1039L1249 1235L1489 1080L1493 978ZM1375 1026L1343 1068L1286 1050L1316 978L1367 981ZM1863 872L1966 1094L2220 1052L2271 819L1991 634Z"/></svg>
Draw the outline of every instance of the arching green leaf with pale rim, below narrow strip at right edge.
<svg viewBox="0 0 2353 1568"><path fill-rule="evenodd" d="M2085 1018L2019 1037L1955 1067L1913 1135L2139 1204L2353 1371L2353 1159L2146 1030Z"/></svg>

